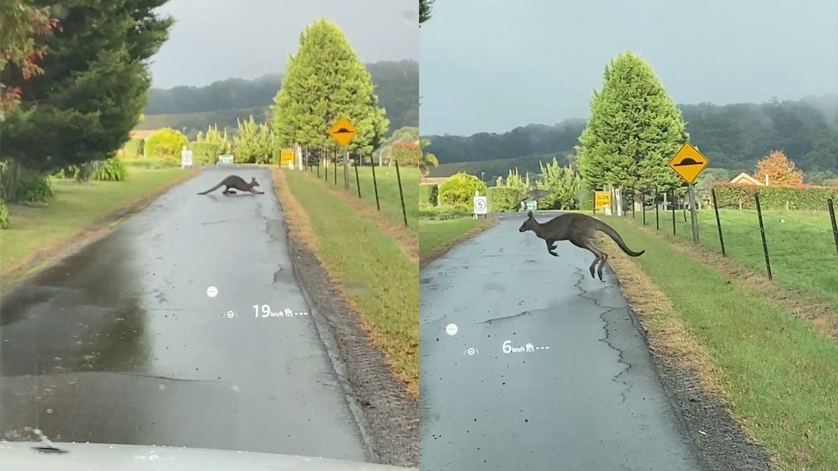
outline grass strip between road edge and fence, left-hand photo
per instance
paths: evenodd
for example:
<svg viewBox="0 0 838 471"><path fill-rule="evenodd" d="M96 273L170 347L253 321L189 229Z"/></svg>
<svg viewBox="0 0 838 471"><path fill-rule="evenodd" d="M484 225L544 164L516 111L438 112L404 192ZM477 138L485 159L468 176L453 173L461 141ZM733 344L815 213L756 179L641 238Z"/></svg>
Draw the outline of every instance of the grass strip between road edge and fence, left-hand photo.
<svg viewBox="0 0 838 471"><path fill-rule="evenodd" d="M343 285L344 292L370 327L373 341L384 351L396 373L417 392L419 286L416 263L408 259L396 241L381 231L375 221L360 216L323 187L311 184L307 175L298 171L283 172L288 189L303 205L318 235L318 256L328 272ZM416 188L415 184L413 188Z"/></svg>

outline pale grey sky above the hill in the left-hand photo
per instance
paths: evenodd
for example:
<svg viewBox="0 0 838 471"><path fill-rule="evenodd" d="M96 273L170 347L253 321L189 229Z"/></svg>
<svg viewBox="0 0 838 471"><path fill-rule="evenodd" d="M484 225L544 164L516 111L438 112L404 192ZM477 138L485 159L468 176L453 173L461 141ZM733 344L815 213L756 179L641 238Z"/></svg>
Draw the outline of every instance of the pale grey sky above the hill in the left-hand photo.
<svg viewBox="0 0 838 471"><path fill-rule="evenodd" d="M176 23L152 58L153 87L208 85L285 70L300 32L325 17L343 29L359 59L419 59L416 0L169 0Z"/></svg>

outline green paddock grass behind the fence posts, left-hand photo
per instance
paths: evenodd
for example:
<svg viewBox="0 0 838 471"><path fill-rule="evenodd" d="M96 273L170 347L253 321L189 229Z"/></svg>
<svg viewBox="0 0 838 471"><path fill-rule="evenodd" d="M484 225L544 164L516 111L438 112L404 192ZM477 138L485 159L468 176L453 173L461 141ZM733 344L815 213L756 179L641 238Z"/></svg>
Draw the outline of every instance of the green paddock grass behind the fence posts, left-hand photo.
<svg viewBox="0 0 838 471"><path fill-rule="evenodd" d="M313 175L317 175L317 168L313 168ZM408 229L416 232L419 220L419 170L412 167L400 167L401 191L405 199L405 212L407 215ZM320 168L320 179L326 181L326 174L323 167ZM343 189L344 171L338 167L338 188ZM361 187L361 199L375 208L375 185L372 179L371 167L358 168L358 181ZM399 197L399 184L396 179L396 167L376 167L375 181L378 184L378 199L381 205L381 213L396 224L405 224L404 215L401 214L401 199ZM334 167L328 168L328 183L334 185ZM349 168L349 194L358 197L358 186L355 183L354 168Z"/></svg>

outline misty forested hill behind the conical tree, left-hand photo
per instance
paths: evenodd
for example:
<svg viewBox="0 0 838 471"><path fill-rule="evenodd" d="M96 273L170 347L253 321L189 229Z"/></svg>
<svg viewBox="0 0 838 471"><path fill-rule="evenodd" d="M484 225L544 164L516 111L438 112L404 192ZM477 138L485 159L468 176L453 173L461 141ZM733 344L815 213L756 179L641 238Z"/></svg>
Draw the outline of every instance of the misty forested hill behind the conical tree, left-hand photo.
<svg viewBox="0 0 838 471"><path fill-rule="evenodd" d="M390 132L400 127L419 126L419 64L415 60L380 61L366 65L375 83L379 106L387 111ZM227 79L194 87L176 86L148 91L145 120L137 129L173 127L197 132L210 124L235 127L236 118L251 114L265 120L282 83L281 74L254 80Z"/></svg>

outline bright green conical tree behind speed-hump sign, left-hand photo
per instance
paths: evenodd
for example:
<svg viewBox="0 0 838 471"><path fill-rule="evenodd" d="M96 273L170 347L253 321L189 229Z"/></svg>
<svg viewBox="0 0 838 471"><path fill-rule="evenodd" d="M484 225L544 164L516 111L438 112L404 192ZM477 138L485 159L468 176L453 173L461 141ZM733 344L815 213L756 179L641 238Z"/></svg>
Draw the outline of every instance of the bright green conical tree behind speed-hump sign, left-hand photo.
<svg viewBox="0 0 838 471"><path fill-rule="evenodd" d="M384 141L389 122L364 65L334 23L320 18L300 34L272 106L277 144L331 149L328 129L344 116L357 129L347 151L370 155Z"/></svg>

